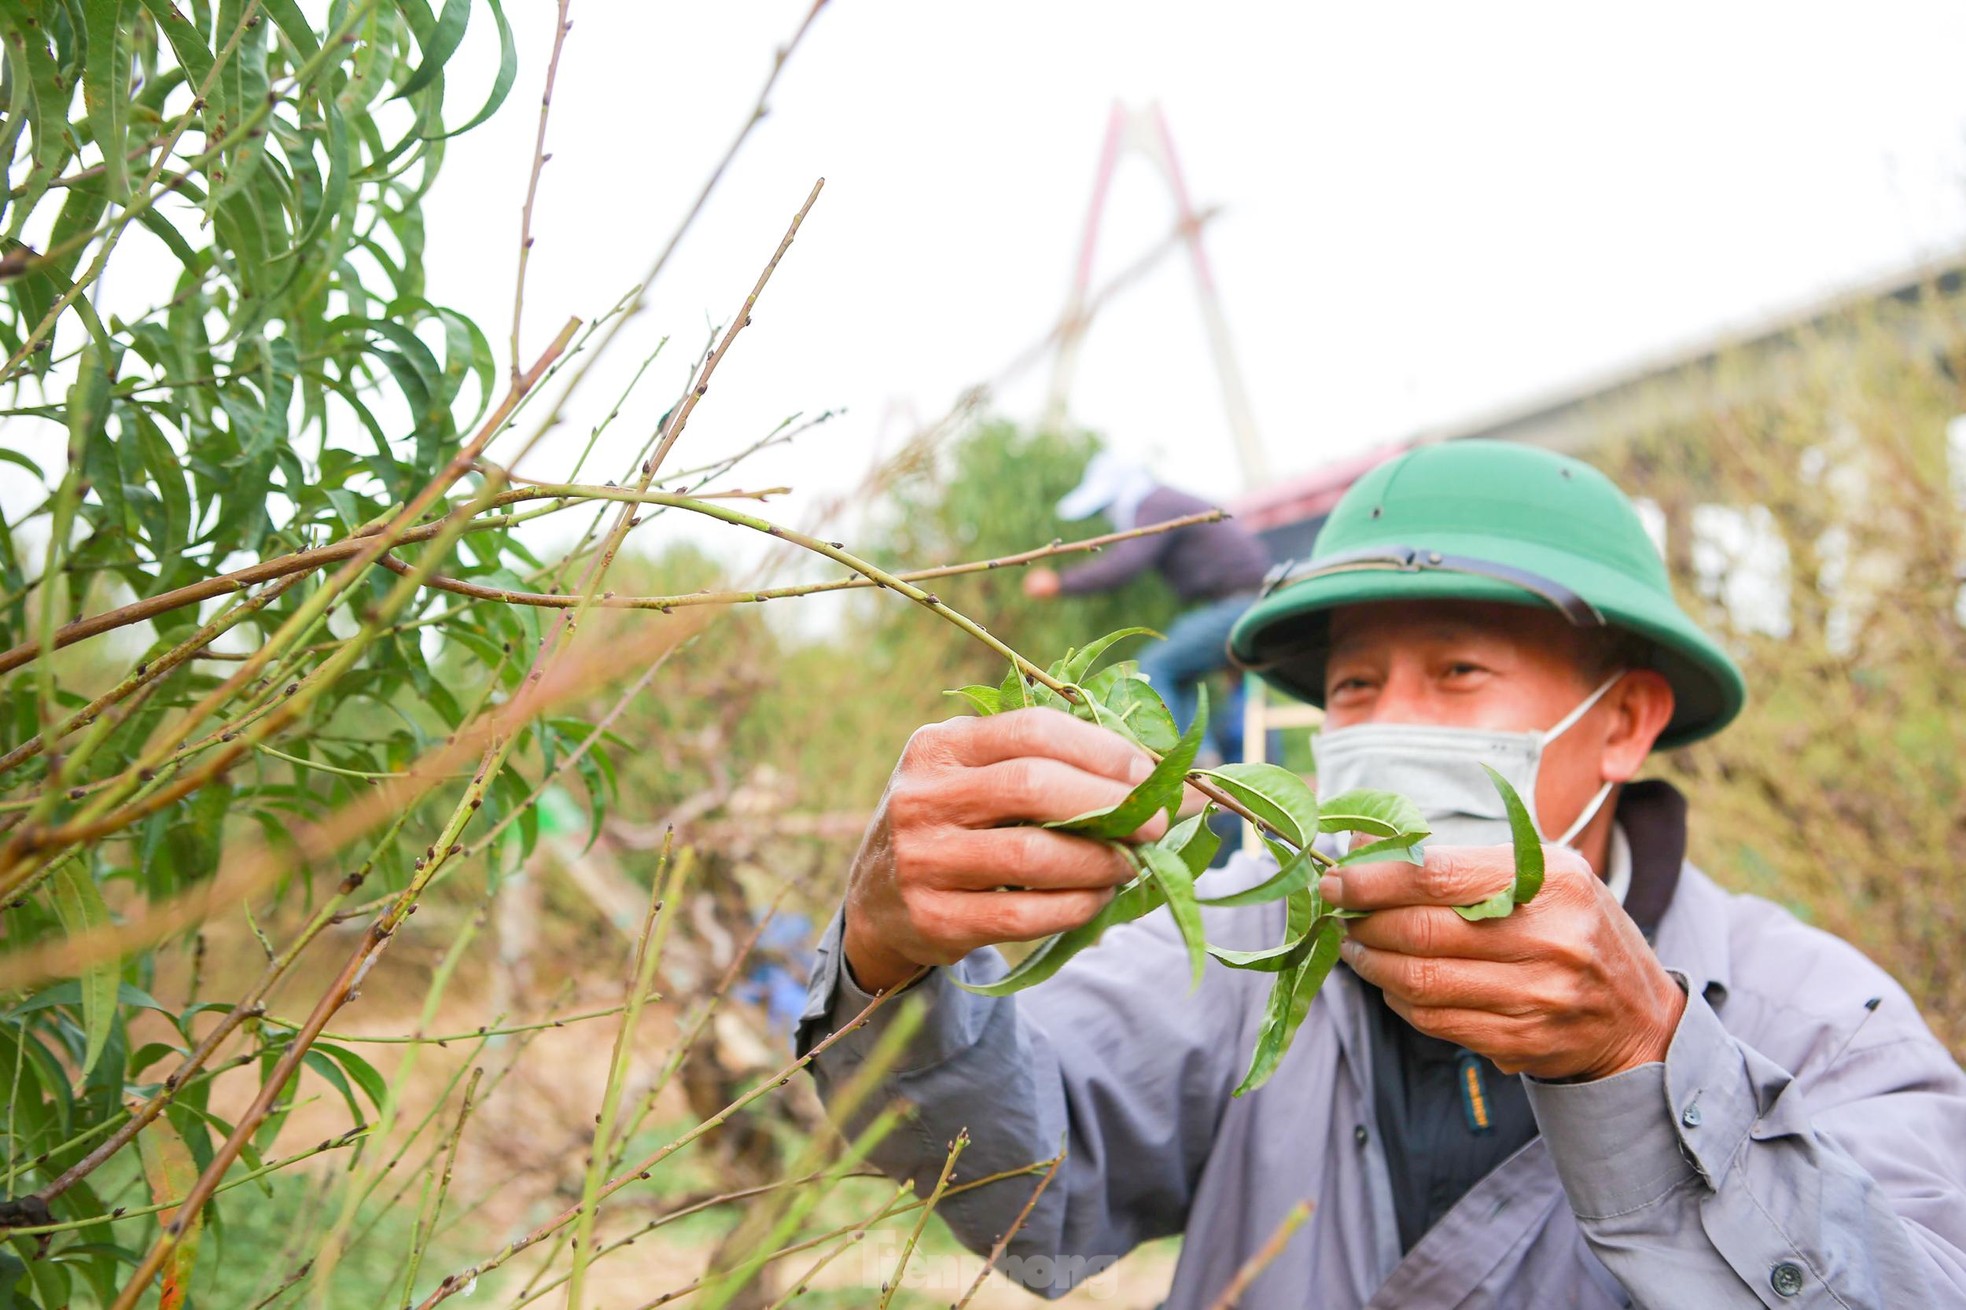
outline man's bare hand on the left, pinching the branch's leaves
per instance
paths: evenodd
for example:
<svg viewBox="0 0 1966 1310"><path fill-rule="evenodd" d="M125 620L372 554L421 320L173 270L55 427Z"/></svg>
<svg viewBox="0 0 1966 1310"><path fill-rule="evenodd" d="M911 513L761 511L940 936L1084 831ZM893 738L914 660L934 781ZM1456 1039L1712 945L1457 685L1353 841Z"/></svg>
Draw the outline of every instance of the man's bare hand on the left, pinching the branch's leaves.
<svg viewBox="0 0 1966 1310"><path fill-rule="evenodd" d="M1060 710L952 718L908 738L847 881L845 958L865 991L977 946L1075 928L1132 877L1089 838L1036 824L1119 803L1154 767ZM1138 834L1166 830L1156 816Z"/></svg>

